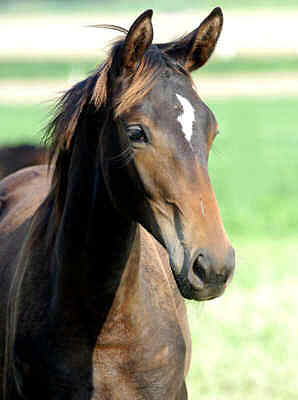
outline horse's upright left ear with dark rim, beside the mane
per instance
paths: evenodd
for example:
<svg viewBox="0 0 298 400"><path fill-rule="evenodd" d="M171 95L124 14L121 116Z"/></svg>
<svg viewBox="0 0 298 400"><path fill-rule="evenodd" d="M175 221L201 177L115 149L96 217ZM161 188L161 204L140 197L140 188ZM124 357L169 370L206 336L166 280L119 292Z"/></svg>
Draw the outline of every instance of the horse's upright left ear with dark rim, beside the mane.
<svg viewBox="0 0 298 400"><path fill-rule="evenodd" d="M126 36L122 62L124 68L134 70L153 40L151 23L153 11L147 10L132 24Z"/></svg>

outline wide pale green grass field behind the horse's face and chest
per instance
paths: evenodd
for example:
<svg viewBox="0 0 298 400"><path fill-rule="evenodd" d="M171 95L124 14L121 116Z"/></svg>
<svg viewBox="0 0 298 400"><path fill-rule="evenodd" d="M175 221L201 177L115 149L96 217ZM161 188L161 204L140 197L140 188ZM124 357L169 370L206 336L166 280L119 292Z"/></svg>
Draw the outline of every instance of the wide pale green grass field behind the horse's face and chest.
<svg viewBox="0 0 298 400"><path fill-rule="evenodd" d="M236 248L223 297L188 305L191 400L298 397L298 99L207 101L209 170ZM40 138L48 105L0 106L0 142Z"/></svg>

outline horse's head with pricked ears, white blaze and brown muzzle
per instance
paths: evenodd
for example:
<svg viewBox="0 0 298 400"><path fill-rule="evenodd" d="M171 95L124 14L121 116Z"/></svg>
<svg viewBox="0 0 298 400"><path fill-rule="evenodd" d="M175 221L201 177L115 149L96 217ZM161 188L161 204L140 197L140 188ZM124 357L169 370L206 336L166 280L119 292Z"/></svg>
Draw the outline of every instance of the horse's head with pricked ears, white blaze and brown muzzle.
<svg viewBox="0 0 298 400"><path fill-rule="evenodd" d="M216 8L192 33L162 45L152 45L151 16L143 13L117 48L114 118L132 156L119 207L167 249L181 294L207 300L231 279L234 250L207 170L216 119L189 72L210 57L223 16Z"/></svg>

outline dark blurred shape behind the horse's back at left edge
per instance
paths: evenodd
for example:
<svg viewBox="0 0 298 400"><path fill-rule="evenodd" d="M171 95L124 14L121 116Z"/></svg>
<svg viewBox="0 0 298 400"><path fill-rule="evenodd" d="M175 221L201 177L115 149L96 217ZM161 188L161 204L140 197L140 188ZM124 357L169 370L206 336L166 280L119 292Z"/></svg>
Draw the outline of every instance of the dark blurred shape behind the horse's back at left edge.
<svg viewBox="0 0 298 400"><path fill-rule="evenodd" d="M19 169L46 163L46 147L30 144L0 147L0 180Z"/></svg>

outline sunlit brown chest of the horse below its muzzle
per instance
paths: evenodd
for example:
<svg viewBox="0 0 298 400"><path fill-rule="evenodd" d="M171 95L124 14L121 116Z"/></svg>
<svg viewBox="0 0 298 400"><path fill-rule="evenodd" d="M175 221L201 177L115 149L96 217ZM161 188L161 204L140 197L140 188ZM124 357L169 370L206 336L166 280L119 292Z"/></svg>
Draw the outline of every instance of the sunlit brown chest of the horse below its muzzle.
<svg viewBox="0 0 298 400"><path fill-rule="evenodd" d="M148 249L143 248L141 268L137 263L126 268L98 338L92 400L185 398L177 396L189 358L180 315L184 304L178 305L169 267Z"/></svg>

